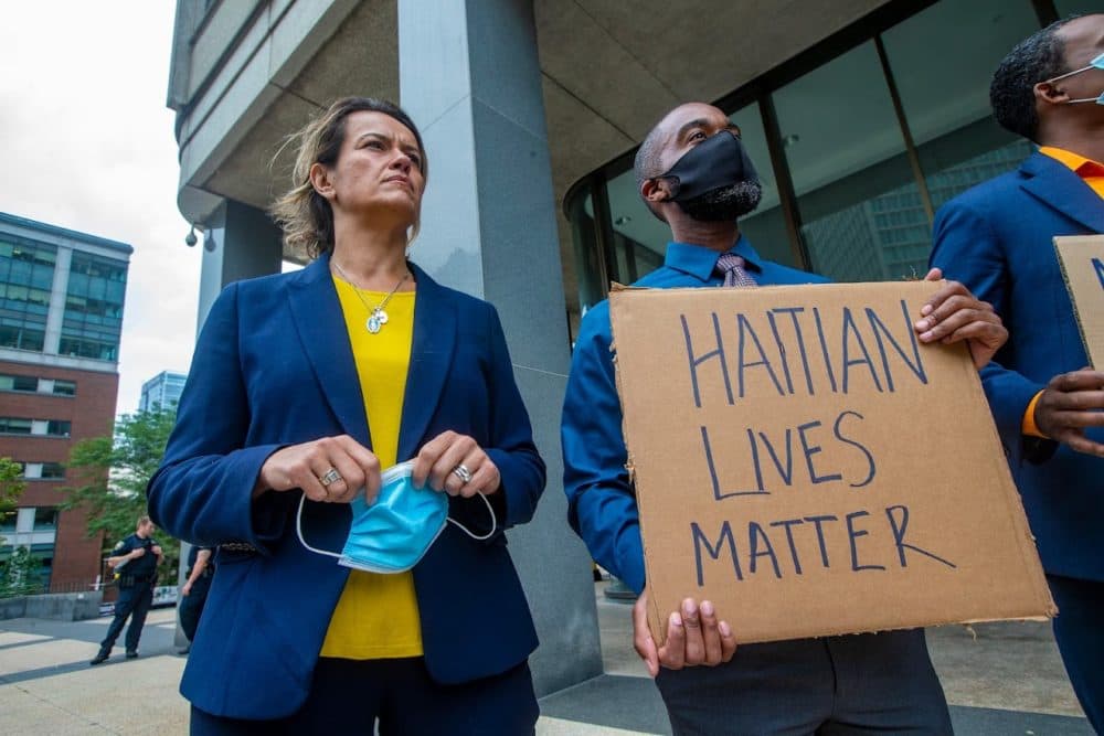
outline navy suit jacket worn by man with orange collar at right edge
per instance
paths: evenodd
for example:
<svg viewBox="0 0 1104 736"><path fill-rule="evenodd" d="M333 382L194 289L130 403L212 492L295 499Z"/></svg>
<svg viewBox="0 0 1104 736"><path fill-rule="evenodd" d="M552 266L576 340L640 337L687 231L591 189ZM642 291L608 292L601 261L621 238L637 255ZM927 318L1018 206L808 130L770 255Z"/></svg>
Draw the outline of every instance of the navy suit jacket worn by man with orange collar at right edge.
<svg viewBox="0 0 1104 736"><path fill-rule="evenodd" d="M1089 364L1052 238L1104 233L1104 200L1043 153L945 204L932 265L992 303L1009 339L981 383L1048 573L1104 580L1104 459L1021 435L1032 396ZM1089 437L1104 441L1104 428ZM968 491L968 489L964 489Z"/></svg>

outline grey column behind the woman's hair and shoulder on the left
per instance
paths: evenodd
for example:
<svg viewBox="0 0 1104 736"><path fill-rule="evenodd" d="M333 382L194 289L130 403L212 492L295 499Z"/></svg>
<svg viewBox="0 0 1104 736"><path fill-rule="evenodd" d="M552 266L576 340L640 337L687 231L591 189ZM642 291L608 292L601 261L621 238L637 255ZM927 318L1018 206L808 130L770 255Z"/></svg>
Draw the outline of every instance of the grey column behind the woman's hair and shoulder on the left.
<svg viewBox="0 0 1104 736"><path fill-rule="evenodd" d="M278 274L283 265L284 246L279 228L268 215L247 204L226 200L206 223L199 247L203 248L200 271L200 298L197 317L197 335L203 329L211 305L227 284L243 278ZM184 584L188 573L187 542L180 543L180 567L177 585ZM188 643L177 622L176 644Z"/></svg>

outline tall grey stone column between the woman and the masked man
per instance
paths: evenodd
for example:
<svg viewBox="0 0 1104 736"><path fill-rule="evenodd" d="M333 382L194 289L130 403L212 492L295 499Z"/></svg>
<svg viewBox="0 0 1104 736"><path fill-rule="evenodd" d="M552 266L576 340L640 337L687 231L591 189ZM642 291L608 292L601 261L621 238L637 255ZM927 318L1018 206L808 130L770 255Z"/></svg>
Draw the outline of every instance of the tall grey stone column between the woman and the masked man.
<svg viewBox="0 0 1104 736"><path fill-rule="evenodd" d="M601 674L602 653L591 558L567 526L562 486L570 350L531 0L399 0L399 68L429 159L411 257L498 308L548 463L537 519L509 533L544 695Z"/></svg>

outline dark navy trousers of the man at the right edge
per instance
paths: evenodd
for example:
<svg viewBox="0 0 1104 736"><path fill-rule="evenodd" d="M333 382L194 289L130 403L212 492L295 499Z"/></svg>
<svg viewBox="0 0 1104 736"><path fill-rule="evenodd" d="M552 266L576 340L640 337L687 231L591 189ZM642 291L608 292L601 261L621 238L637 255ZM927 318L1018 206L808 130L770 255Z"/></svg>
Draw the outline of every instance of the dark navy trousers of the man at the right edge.
<svg viewBox="0 0 1104 736"><path fill-rule="evenodd" d="M1048 575L1058 604L1054 640L1073 692L1097 733L1104 733L1104 583Z"/></svg>

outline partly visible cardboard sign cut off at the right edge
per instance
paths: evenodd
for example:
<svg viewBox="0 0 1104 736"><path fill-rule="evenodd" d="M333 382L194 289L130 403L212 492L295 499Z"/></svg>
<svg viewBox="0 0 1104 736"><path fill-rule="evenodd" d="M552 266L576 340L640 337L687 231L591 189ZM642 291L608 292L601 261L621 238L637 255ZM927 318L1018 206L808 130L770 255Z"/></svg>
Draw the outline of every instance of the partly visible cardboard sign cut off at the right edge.
<svg viewBox="0 0 1104 736"><path fill-rule="evenodd" d="M1104 371L1104 235L1054 238L1089 362Z"/></svg>

